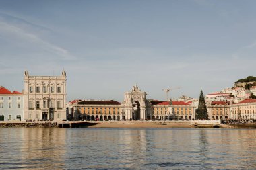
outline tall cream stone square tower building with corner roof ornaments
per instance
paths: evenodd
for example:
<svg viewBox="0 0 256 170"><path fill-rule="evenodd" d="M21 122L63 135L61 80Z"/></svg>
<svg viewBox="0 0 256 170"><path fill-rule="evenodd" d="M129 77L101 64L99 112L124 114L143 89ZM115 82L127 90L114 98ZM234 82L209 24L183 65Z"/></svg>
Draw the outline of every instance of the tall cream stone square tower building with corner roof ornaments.
<svg viewBox="0 0 256 170"><path fill-rule="evenodd" d="M66 119L66 72L60 76L30 76L24 73L24 119Z"/></svg>

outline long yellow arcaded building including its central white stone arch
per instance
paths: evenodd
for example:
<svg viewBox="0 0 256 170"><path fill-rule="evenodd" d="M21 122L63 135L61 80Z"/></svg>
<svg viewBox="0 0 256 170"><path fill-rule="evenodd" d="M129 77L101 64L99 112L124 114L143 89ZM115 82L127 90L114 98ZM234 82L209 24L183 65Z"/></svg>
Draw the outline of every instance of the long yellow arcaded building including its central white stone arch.
<svg viewBox="0 0 256 170"><path fill-rule="evenodd" d="M195 107L183 101L149 101L146 92L133 86L117 101L81 101L69 103L69 120L191 120Z"/></svg>

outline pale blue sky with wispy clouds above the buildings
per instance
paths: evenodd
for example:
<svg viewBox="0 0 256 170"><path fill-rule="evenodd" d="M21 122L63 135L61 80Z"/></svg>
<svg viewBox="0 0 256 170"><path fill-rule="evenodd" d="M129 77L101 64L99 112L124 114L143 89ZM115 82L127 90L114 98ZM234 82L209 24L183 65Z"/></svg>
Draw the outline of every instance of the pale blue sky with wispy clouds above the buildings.
<svg viewBox="0 0 256 170"><path fill-rule="evenodd" d="M67 72L67 101L199 98L255 76L256 1L0 0L0 85Z"/></svg>

